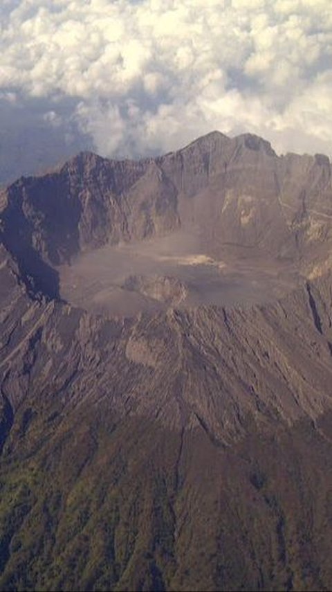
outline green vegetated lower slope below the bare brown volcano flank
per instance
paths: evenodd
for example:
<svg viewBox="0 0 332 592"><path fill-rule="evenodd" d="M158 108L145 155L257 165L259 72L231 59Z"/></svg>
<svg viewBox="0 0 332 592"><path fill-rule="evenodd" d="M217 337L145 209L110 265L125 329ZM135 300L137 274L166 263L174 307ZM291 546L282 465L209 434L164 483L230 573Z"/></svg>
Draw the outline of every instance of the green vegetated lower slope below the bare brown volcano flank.
<svg viewBox="0 0 332 592"><path fill-rule="evenodd" d="M331 582L324 431L297 424L221 449L202 429L181 446L180 433L142 418L108 423L82 406L52 425L49 411L19 437L22 410L3 449L0 589Z"/></svg>

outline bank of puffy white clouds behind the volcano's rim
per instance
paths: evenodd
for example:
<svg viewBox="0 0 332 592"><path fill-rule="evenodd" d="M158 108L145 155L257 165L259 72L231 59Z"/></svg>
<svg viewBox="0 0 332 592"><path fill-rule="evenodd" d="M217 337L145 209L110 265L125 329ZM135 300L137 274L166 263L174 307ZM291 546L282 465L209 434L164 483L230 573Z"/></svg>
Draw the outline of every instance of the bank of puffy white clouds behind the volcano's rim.
<svg viewBox="0 0 332 592"><path fill-rule="evenodd" d="M0 24L0 99L101 154L212 129L332 154L331 0L2 0Z"/></svg>

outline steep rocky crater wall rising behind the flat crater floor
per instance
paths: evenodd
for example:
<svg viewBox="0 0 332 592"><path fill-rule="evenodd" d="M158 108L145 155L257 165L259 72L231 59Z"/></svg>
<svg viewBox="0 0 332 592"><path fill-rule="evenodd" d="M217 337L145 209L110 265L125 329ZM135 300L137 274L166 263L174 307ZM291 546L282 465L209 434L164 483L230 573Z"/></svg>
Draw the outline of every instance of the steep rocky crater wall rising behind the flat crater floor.
<svg viewBox="0 0 332 592"><path fill-rule="evenodd" d="M250 134L213 132L154 160L82 153L44 177L22 177L2 201L3 242L18 249L24 239L52 264L178 226L196 228L219 253L236 244L293 255L330 238L331 165L322 155L278 157Z"/></svg>

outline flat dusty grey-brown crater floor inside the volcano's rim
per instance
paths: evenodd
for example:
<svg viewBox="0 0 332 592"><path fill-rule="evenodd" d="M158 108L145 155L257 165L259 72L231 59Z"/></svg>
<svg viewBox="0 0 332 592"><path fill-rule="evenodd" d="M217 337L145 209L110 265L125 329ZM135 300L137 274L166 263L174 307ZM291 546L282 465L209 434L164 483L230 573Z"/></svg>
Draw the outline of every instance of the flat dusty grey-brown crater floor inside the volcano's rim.
<svg viewBox="0 0 332 592"><path fill-rule="evenodd" d="M221 260L193 234L107 245L59 268L62 298L90 312L130 316L164 307L252 305L299 282L294 264L248 249Z"/></svg>

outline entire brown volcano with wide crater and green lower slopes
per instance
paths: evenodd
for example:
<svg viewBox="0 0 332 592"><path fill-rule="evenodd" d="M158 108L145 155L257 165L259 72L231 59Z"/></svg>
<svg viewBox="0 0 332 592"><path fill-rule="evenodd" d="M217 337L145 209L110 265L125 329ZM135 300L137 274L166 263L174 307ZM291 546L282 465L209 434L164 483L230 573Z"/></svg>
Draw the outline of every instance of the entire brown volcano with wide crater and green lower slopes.
<svg viewBox="0 0 332 592"><path fill-rule="evenodd" d="M1 192L1 589L331 588L331 223L251 134Z"/></svg>

